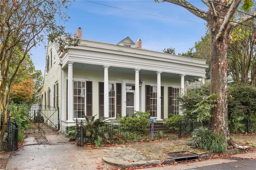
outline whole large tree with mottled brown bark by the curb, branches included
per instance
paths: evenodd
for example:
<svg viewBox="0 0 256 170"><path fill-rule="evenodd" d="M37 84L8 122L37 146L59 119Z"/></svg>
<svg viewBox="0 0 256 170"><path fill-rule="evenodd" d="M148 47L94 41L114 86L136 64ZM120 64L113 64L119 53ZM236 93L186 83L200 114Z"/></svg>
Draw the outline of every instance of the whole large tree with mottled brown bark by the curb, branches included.
<svg viewBox="0 0 256 170"><path fill-rule="evenodd" d="M155 0L158 2L158 0ZM164 0L186 8L192 14L205 20L210 28L211 34L211 94L216 94L218 101L217 107L211 109L210 129L226 136L226 141L231 143L230 133L228 130L228 85L227 85L227 69L228 57L227 49L230 40L230 31L239 26L241 23L252 20L256 16L256 12L249 15L245 14L240 18L234 18L238 6L242 0L202 0L208 6L208 11L201 10L190 4L186 0ZM244 10L248 10L252 6L251 0L243 1Z"/></svg>

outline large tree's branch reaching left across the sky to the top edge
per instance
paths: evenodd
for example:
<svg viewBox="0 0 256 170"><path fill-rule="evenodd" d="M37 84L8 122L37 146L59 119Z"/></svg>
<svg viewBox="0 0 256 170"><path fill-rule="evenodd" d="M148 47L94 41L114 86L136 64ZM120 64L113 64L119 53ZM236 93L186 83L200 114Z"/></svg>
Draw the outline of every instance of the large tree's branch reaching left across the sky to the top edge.
<svg viewBox="0 0 256 170"><path fill-rule="evenodd" d="M163 1L182 6L186 8L189 12L194 14L195 16L202 18L207 22L210 20L208 14L206 14L207 13L206 11L196 8L194 5L190 4L186 0L163 0Z"/></svg>

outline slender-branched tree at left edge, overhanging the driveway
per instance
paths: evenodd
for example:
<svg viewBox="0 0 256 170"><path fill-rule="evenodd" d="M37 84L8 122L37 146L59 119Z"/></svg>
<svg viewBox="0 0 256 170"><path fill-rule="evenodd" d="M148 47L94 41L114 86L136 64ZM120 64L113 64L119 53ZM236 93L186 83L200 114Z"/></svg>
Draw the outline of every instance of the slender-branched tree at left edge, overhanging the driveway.
<svg viewBox="0 0 256 170"><path fill-rule="evenodd" d="M7 125L7 108L12 85L21 71L21 65L30 49L45 42L59 44L59 51L66 51L68 45L77 45L78 39L65 32L68 19L62 8L68 8L68 0L2 0L0 1L0 106L4 110L2 141ZM62 22L58 25L55 15ZM1 125L1 124L0 124Z"/></svg>

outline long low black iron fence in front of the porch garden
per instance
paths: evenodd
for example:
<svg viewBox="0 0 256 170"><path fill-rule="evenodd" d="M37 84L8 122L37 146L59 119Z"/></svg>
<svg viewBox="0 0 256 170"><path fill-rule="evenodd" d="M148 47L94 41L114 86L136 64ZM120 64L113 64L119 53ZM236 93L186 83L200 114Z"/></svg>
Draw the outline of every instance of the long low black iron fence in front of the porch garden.
<svg viewBox="0 0 256 170"><path fill-rule="evenodd" d="M234 131L231 127L242 127L242 131ZM230 123L231 133L251 133L256 132L256 123L246 119L244 122ZM208 127L208 123L198 123L193 120L179 121L171 126L166 126L163 122L152 122L150 126L142 127L143 129L138 132L138 127L124 127L119 123L107 123L104 127L99 128L102 132L93 134L92 131L96 131L96 127L89 127L82 123L76 123L76 142L78 146L83 146L85 143L93 143L95 135L99 135L104 144L116 144L122 142L133 142L133 141L147 141L147 140L158 140L158 139L175 139L189 137L191 132L198 127ZM92 130L92 128L95 128ZM236 128L237 129L237 128ZM106 135L107 134L107 135ZM108 137L106 137L108 136Z"/></svg>

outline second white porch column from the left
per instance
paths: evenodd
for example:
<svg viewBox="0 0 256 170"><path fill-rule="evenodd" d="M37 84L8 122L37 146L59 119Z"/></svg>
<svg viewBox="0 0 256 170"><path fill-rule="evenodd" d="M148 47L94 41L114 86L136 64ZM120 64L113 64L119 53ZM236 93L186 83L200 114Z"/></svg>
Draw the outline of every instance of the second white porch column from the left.
<svg viewBox="0 0 256 170"><path fill-rule="evenodd" d="M109 117L108 106L108 67L104 65L104 117Z"/></svg>

